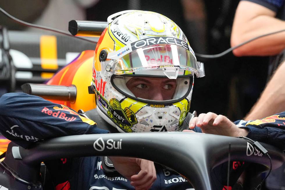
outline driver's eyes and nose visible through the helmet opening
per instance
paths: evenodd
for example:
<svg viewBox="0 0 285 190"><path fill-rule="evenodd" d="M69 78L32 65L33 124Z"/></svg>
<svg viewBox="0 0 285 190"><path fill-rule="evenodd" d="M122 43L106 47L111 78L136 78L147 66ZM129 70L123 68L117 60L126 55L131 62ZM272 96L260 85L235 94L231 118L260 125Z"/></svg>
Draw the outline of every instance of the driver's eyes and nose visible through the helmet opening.
<svg viewBox="0 0 285 190"><path fill-rule="evenodd" d="M176 79L133 77L126 85L137 98L171 100L176 88Z"/></svg>

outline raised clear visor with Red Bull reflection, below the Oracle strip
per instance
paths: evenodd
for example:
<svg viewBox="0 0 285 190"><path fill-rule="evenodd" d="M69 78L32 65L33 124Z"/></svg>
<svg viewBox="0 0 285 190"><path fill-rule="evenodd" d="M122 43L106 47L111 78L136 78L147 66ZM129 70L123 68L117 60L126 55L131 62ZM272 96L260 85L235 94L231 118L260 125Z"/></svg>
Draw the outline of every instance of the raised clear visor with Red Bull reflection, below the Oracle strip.
<svg viewBox="0 0 285 190"><path fill-rule="evenodd" d="M173 44L149 45L130 52L131 46L121 49L120 52L108 54L111 61L102 61L102 71L110 72L110 75L144 74L167 76L176 79L181 75L193 75L203 77L204 65L196 61L195 56L184 47ZM129 52L129 53L127 53ZM149 72L160 70L158 72ZM163 72L161 72L163 71Z"/></svg>

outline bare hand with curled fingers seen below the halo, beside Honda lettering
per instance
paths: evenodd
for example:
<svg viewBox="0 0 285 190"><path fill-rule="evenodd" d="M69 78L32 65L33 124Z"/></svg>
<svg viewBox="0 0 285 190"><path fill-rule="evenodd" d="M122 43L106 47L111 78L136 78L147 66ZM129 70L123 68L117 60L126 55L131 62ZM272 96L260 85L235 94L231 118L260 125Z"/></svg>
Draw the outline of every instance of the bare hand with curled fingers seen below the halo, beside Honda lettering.
<svg viewBox="0 0 285 190"><path fill-rule="evenodd" d="M109 157L115 169L128 180L136 190L147 190L156 180L154 163L149 160L128 157Z"/></svg>

